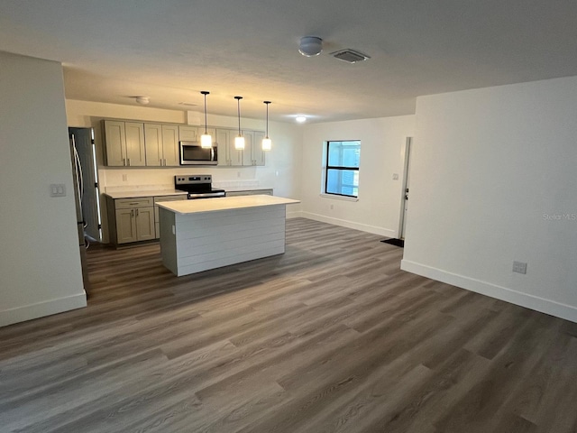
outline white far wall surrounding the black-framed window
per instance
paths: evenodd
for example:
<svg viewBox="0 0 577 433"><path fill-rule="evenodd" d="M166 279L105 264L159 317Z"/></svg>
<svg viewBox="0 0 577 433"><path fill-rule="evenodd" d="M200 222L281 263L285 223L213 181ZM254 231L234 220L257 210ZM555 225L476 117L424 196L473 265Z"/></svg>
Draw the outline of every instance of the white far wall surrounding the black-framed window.
<svg viewBox="0 0 577 433"><path fill-rule="evenodd" d="M398 236L403 163L415 116L308 124L302 162L302 216L389 237ZM327 141L361 140L359 199L321 196ZM398 180L393 180L393 173Z"/></svg>

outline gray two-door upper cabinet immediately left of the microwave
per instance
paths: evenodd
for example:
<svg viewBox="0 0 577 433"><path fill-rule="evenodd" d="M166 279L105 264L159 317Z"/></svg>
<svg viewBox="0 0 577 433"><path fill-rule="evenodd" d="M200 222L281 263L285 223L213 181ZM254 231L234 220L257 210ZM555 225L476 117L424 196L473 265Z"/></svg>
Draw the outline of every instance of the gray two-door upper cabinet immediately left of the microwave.
<svg viewBox="0 0 577 433"><path fill-rule="evenodd" d="M148 167L179 166L178 125L144 124L144 143Z"/></svg>

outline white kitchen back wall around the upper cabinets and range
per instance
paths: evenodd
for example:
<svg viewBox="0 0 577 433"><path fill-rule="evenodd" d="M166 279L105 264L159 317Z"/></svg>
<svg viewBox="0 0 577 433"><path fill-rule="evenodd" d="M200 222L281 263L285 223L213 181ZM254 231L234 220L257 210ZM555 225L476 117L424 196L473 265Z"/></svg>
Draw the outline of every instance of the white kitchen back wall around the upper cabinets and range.
<svg viewBox="0 0 577 433"><path fill-rule="evenodd" d="M272 150L267 153L264 167L165 167L165 168L116 168L105 167L102 150L101 119L120 118L140 121L177 124L199 124L204 115L197 112L163 110L143 106L119 106L114 104L67 100L69 126L93 127L98 159L98 176L101 190L106 188L133 189L142 186L174 185L174 175L184 173L212 174L215 185L224 184L247 189L274 189L280 197L299 198L300 158L302 152L302 128L296 124L269 122ZM202 117L202 118L201 118ZM237 127L238 119L222 115L208 115L208 125ZM243 129L265 129L264 119L242 119ZM126 179L126 180L124 180ZM102 200L103 215L105 202ZM289 207L289 213L298 211L298 205ZM103 236L107 242L106 218L103 218Z"/></svg>

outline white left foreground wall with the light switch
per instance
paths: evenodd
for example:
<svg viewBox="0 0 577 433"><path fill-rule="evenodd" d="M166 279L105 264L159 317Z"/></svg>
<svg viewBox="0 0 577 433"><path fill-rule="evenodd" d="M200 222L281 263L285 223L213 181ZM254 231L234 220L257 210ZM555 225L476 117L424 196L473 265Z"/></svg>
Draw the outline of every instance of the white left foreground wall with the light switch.
<svg viewBox="0 0 577 433"><path fill-rule="evenodd" d="M0 51L0 326L87 305L60 63ZM63 198L50 184L63 183Z"/></svg>

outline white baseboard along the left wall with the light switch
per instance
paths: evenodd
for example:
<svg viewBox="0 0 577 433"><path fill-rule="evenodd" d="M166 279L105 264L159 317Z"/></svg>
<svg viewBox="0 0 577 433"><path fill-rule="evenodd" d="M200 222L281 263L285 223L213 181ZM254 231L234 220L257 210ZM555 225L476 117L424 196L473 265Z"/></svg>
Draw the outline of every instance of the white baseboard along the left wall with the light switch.
<svg viewBox="0 0 577 433"><path fill-rule="evenodd" d="M0 327L32 320L32 318L42 318L44 316L62 313L70 309L81 309L86 306L87 294L82 290L82 293L66 298L50 299L15 309L0 310Z"/></svg>

